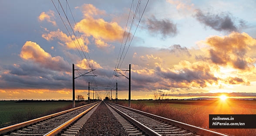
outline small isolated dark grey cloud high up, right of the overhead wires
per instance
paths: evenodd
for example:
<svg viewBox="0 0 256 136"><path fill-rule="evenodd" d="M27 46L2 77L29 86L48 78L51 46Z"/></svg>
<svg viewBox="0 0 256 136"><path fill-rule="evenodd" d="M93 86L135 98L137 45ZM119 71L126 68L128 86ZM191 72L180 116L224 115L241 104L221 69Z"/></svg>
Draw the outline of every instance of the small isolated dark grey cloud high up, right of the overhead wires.
<svg viewBox="0 0 256 136"><path fill-rule="evenodd" d="M177 34L177 26L171 20L161 19L158 20L155 16L148 18L146 21L146 29L152 35L161 35L162 38L173 37Z"/></svg>

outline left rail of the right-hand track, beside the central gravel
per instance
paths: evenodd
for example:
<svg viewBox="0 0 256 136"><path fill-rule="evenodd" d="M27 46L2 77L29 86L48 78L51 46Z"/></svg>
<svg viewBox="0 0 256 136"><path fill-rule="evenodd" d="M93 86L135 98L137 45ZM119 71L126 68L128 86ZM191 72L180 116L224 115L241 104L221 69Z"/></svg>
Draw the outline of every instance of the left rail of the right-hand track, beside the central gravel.
<svg viewBox="0 0 256 136"><path fill-rule="evenodd" d="M127 120L129 120L131 123L133 123L135 126L137 126L139 129L141 129L143 132L148 134L149 136L161 136L160 134L156 133L155 131L151 130L147 126L139 123L137 120L131 118L130 116L126 115L125 113L121 112L120 110L116 109L112 105L108 104L112 109L114 109L117 113L121 114L121 116L125 117Z"/></svg>

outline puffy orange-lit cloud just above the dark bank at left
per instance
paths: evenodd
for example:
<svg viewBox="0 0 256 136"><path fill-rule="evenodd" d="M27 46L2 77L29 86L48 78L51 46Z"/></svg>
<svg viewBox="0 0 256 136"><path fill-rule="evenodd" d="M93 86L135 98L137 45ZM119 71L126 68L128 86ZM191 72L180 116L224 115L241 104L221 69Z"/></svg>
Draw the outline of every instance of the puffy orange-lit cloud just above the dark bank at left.
<svg viewBox="0 0 256 136"><path fill-rule="evenodd" d="M44 68L49 68L56 71L67 71L69 63L64 61L60 56L52 57L48 52L45 52L36 42L27 41L20 52L20 57L24 60L31 60L38 63Z"/></svg>

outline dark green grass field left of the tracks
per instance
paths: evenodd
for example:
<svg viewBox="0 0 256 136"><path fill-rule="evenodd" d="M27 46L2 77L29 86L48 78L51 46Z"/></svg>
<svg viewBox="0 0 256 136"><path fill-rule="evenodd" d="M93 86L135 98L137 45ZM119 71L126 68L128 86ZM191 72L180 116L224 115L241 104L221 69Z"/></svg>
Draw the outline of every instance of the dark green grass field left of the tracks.
<svg viewBox="0 0 256 136"><path fill-rule="evenodd" d="M72 101L0 101L0 127L49 115L71 105Z"/></svg>

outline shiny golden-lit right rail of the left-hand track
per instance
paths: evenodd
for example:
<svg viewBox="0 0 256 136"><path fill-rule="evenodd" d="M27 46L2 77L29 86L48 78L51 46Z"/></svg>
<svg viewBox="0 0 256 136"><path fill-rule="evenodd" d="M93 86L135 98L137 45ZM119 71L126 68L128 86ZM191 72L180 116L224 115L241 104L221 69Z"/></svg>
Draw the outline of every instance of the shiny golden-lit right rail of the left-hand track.
<svg viewBox="0 0 256 136"><path fill-rule="evenodd" d="M100 104L99 102L98 104ZM68 126L70 126L72 123L74 123L76 120L78 120L80 117L82 117L85 113L88 113L91 109L93 109L98 104L95 104L94 106L90 107L87 110L84 110L82 113L78 114L76 117L73 117L72 119L68 120L67 122L63 123L62 125L58 126L54 130L51 130L44 136L56 136L58 133L60 133L62 130L66 129Z"/></svg>

